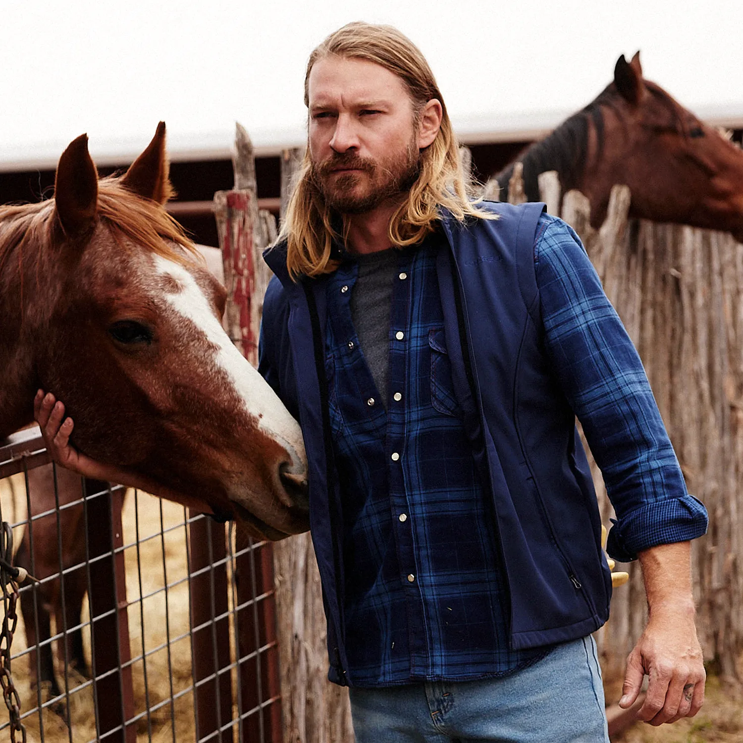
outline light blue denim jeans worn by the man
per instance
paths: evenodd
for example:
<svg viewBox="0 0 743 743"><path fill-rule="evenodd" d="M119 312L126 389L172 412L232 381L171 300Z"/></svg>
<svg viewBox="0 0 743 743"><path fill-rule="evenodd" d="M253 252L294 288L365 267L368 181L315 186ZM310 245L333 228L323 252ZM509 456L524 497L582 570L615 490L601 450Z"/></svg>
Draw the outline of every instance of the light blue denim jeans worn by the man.
<svg viewBox="0 0 743 743"><path fill-rule="evenodd" d="M609 743L590 635L503 678L349 691L356 743Z"/></svg>

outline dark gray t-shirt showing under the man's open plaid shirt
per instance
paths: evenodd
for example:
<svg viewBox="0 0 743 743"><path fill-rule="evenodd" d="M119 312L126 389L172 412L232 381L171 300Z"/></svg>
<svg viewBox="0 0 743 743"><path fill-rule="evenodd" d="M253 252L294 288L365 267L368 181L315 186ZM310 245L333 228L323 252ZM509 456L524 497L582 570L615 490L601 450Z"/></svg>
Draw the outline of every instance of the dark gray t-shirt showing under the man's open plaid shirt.
<svg viewBox="0 0 743 743"><path fill-rule="evenodd" d="M389 314L400 251L391 247L356 256L359 275L351 293L351 319L374 384L387 407Z"/></svg>

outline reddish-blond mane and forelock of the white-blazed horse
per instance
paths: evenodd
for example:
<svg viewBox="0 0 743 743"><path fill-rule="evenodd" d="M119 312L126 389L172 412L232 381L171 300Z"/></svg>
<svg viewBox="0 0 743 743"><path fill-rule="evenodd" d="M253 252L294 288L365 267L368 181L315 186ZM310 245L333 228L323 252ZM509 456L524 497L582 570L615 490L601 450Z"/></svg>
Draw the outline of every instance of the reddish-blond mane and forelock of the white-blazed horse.
<svg viewBox="0 0 743 743"><path fill-rule="evenodd" d="M183 264L189 256L198 256L184 228L161 204L129 191L120 181L120 175L98 181L100 221L114 233L163 258ZM0 207L0 271L14 250L26 245L54 244L61 234L53 199Z"/></svg>

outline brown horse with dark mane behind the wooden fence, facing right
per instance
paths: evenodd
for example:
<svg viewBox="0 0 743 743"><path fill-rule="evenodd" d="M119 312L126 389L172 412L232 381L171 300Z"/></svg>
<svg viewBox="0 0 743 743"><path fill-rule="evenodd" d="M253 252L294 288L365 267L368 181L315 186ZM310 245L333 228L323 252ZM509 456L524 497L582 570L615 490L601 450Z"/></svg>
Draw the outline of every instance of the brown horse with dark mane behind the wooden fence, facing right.
<svg viewBox="0 0 743 743"><path fill-rule="evenodd" d="M743 152L644 80L639 52L632 62L620 56L614 82L516 160L529 201L539 201L537 176L557 170L563 193L588 197L594 227L606 218L611 186L624 184L631 217L722 230L743 241ZM512 173L513 165L495 177L502 201Z"/></svg>

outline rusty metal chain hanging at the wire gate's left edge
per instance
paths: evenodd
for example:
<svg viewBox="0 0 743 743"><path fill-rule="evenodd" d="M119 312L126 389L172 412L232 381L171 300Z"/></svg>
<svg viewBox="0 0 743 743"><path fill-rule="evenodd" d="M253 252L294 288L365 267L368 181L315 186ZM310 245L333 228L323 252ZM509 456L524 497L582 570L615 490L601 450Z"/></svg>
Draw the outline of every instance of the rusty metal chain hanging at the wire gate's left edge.
<svg viewBox="0 0 743 743"><path fill-rule="evenodd" d="M13 675L10 673L10 645L18 624L18 577L19 569L13 568L13 529L7 522L2 523L0 531L0 583L5 616L0 631L0 686L10 717L10 743L16 743L16 733L20 731L22 743L26 743L26 728L21 722L21 700Z"/></svg>

